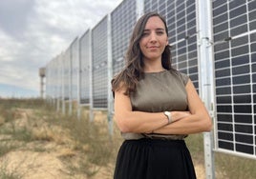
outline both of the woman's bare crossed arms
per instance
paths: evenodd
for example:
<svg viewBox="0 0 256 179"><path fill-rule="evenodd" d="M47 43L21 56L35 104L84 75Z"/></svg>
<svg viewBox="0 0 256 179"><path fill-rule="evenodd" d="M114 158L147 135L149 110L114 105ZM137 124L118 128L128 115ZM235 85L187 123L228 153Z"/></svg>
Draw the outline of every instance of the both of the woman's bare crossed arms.
<svg viewBox="0 0 256 179"><path fill-rule="evenodd" d="M122 132L191 134L212 129L210 116L191 80L185 86L189 111L171 111L172 120L168 124L162 112L133 111L125 89L115 91L115 120Z"/></svg>

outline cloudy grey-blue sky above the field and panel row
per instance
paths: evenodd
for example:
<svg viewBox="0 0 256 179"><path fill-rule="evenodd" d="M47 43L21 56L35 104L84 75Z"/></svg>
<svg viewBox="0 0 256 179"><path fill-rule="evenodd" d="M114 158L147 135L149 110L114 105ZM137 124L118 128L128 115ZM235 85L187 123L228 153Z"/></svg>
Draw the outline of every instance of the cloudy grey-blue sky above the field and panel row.
<svg viewBox="0 0 256 179"><path fill-rule="evenodd" d="M0 96L39 96L39 68L122 0L1 0Z"/></svg>

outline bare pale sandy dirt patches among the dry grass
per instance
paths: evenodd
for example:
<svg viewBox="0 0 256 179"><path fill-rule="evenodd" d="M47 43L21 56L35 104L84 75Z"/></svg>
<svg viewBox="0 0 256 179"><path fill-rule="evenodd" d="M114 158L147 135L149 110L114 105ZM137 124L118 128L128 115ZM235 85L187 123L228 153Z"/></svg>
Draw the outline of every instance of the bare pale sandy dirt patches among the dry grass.
<svg viewBox="0 0 256 179"><path fill-rule="evenodd" d="M111 179L114 165L106 167L87 166L95 168L96 174L88 176L82 172L75 172L72 165L78 165L82 158L86 160L88 156L79 153L74 149L75 142L70 138L65 129L58 126L51 126L43 119L30 120L32 115L36 115L32 109L17 109L14 120L4 122L0 118L0 129L6 132L0 133L0 148L10 149L4 155L0 155L0 176L13 176L22 179ZM99 119L100 120L100 117ZM10 129L30 129L32 135L37 139L24 142L13 140ZM45 136L47 133L47 136ZM65 158L66 160L62 160ZM69 160L67 160L69 159ZM67 161L69 161L67 163ZM195 163L195 169L199 179L204 179L203 165ZM8 177L6 177L8 178ZM10 177L11 178L11 177Z"/></svg>

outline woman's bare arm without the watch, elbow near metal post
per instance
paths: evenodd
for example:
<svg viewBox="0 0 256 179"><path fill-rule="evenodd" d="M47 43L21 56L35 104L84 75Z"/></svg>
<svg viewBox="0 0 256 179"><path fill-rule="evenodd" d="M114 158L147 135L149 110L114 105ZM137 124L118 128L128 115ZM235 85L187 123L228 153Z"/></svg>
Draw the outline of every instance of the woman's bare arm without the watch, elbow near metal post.
<svg viewBox="0 0 256 179"><path fill-rule="evenodd" d="M191 80L188 80L185 89L187 92L188 109L190 114L187 114L180 118L180 120L176 120L169 125L154 130L154 133L190 134L209 131L212 129L211 118ZM177 115L177 113L179 113L179 111L171 112L173 116Z"/></svg>

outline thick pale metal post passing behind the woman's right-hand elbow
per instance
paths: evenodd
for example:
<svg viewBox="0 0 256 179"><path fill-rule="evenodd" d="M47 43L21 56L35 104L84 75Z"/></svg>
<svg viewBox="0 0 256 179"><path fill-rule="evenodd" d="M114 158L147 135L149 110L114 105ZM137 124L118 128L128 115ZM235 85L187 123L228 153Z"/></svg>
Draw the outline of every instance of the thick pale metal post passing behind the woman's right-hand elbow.
<svg viewBox="0 0 256 179"><path fill-rule="evenodd" d="M213 74L212 15L211 0L198 0L198 47L199 47L199 89L203 103L212 119L215 118L215 87ZM203 133L205 178L214 179L213 133Z"/></svg>

